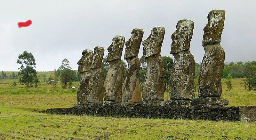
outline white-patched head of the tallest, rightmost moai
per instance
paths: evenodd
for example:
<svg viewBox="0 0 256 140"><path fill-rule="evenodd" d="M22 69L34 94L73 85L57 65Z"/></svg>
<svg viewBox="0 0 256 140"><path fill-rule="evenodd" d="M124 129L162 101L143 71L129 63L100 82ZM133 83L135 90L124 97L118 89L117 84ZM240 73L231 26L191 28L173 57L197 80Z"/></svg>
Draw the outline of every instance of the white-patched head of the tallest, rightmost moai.
<svg viewBox="0 0 256 140"><path fill-rule="evenodd" d="M208 23L204 27L202 46L220 45L220 37L224 27L225 10L212 10L208 14Z"/></svg>

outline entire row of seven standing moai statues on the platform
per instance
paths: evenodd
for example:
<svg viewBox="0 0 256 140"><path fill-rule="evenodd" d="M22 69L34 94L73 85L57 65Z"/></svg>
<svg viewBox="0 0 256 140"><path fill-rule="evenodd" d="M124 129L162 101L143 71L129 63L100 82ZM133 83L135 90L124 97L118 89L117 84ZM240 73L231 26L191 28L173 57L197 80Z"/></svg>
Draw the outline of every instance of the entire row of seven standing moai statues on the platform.
<svg viewBox="0 0 256 140"><path fill-rule="evenodd" d="M170 77L170 100L164 102L164 61L160 55L165 28L154 27L149 37L142 41L143 30L133 29L131 38L125 42L123 36L115 36L108 47L108 73L103 83L101 61L103 47L84 50L83 57L77 63L81 82L77 91L78 105L85 104L134 104L143 105L227 105L228 101L220 99L221 74L224 67L225 53L220 46L220 37L224 26L225 11L212 10L208 14L208 24L204 27L202 46L205 53L198 80L199 98L194 94L195 60L190 53L190 41L194 22L180 20L172 34L171 54L174 65ZM140 44L147 62L142 97L139 86ZM126 78L123 82L124 65L121 61L124 44L124 59L128 63Z"/></svg>

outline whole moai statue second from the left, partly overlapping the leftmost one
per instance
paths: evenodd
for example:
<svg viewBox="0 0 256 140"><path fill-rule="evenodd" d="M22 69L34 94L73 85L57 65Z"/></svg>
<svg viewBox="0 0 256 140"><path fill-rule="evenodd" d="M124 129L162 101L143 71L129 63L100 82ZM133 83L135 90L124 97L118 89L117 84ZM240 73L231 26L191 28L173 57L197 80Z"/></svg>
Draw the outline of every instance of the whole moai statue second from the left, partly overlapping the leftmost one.
<svg viewBox="0 0 256 140"><path fill-rule="evenodd" d="M104 55L103 47L95 47L92 57L92 65L90 67L91 79L88 86L88 103L102 104L103 95L102 88L104 82L104 74L101 70L101 62Z"/></svg>

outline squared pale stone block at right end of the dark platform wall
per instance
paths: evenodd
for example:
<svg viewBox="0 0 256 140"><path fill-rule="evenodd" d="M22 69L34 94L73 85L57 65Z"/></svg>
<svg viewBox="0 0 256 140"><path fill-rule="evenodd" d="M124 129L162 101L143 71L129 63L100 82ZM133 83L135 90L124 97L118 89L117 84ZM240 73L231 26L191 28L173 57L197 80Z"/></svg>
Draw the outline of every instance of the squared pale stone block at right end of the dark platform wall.
<svg viewBox="0 0 256 140"><path fill-rule="evenodd" d="M256 122L256 106L240 106L239 115L241 122Z"/></svg>

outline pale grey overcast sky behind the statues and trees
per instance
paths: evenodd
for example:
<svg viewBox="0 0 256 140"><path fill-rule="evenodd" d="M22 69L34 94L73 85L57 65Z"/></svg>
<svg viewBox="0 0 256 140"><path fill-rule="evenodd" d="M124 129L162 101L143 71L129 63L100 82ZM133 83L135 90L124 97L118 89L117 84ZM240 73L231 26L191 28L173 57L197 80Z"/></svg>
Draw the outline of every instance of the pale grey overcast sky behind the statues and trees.
<svg viewBox="0 0 256 140"><path fill-rule="evenodd" d="M165 27L162 56L173 56L171 34L181 19L194 21L190 52L201 62L203 28L211 10L226 10L221 46L225 62L256 60L255 1L240 0L0 0L0 70L18 71L18 55L31 52L37 71L52 71L66 58L73 69L84 49L108 46L115 35L127 41L134 28L144 30L147 39L155 26ZM32 20L29 27L18 22ZM125 46L124 46L125 48ZM140 47L139 57L143 54ZM124 57L124 51L122 58Z"/></svg>

